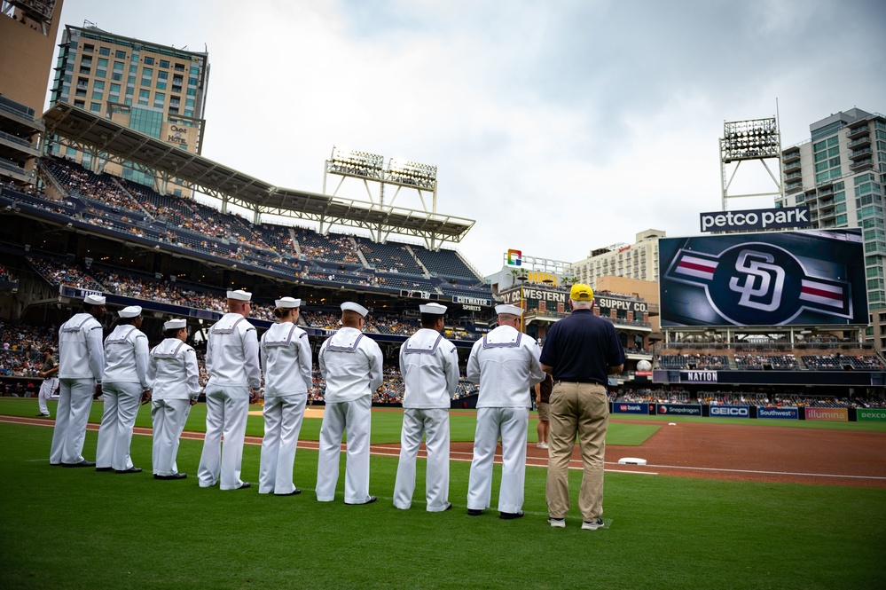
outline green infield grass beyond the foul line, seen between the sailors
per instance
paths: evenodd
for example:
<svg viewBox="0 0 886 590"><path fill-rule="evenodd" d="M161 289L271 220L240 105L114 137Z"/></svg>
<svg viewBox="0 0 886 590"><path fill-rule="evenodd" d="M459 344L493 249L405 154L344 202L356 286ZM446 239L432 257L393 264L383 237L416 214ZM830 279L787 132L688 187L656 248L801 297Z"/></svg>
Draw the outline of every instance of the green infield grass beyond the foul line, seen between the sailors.
<svg viewBox="0 0 886 590"><path fill-rule="evenodd" d="M52 416L55 416L56 402L49 402ZM101 422L103 405L100 402L92 404L90 410L90 422ZM309 406L310 407L310 406ZM318 406L320 407L320 406ZM259 406L252 406L251 410L261 410ZM8 416L34 416L37 412L35 399L23 398L0 398L0 415ZM533 413L534 415L534 413ZM305 418L302 421L302 430L299 433L301 440L319 440L320 418ZM450 437L452 442L469 442L474 440L476 430L476 413L472 411L456 411L450 416ZM529 442L535 443L537 437L537 419L529 419ZM142 405L138 410L136 426L151 428L150 405ZM400 442L400 429L403 426L403 412L376 411L372 412L372 444L388 444ZM655 434L661 428L659 424L619 424L609 425L606 437L607 444L638 445ZM206 430L206 405L197 404L192 406L188 415L185 430L204 432ZM249 416L247 421L247 435L261 437L264 434L264 421L261 415Z"/></svg>

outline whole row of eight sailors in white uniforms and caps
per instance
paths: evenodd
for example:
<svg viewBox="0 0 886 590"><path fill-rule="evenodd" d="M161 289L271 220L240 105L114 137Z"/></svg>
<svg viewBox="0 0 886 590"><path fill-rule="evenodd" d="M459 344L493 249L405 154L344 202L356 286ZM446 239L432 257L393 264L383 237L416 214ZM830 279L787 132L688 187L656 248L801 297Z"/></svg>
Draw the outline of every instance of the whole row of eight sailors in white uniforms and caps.
<svg viewBox="0 0 886 590"><path fill-rule="evenodd" d="M264 437L259 468L259 493L294 495L295 449L307 394L312 385L308 335L297 326L301 300L276 301L278 323L259 339L247 320L252 294L227 293L228 313L208 331L205 387L206 437L200 455L200 487L216 484L238 490L251 484L240 478L248 408L261 397L264 374ZM83 311L59 328L59 407L50 463L95 467L98 471L137 473L129 444L139 403L152 403L153 476L184 479L178 471L178 440L191 406L200 394L196 353L186 344L184 319L163 325L164 340L148 350L139 329L141 308L119 312L114 330L102 342L99 319L105 298L88 295ZM422 437L427 448L427 510L440 512L449 501L449 408L459 383L455 346L443 337L446 307L419 306L421 327L401 346L404 420L394 506L412 506L416 458ZM499 516L522 515L526 466L529 388L545 379L539 349L519 331L523 310L496 306L498 327L474 343L467 379L479 383L474 460L467 492L469 515L480 515L491 503L493 458L502 441L502 482ZM325 380L325 411L319 435L318 501L333 501L339 477L342 437L347 436L344 482L346 504L370 504L369 449L372 392L382 380L379 345L363 333L368 310L358 303L341 304L341 327L318 352ZM105 409L98 431L96 461L82 457L86 423L93 397L104 394Z"/></svg>

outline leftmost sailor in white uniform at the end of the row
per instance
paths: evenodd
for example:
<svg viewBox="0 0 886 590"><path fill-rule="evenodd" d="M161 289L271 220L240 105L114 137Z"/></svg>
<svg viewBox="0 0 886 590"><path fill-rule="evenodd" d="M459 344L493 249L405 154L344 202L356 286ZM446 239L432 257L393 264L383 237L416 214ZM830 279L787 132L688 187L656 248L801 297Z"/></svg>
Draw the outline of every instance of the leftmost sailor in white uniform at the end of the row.
<svg viewBox="0 0 886 590"><path fill-rule="evenodd" d="M102 327L105 297L86 295L83 311L59 327L59 406L52 431L50 465L95 467L83 459L83 440L92 399L101 395L105 349Z"/></svg>

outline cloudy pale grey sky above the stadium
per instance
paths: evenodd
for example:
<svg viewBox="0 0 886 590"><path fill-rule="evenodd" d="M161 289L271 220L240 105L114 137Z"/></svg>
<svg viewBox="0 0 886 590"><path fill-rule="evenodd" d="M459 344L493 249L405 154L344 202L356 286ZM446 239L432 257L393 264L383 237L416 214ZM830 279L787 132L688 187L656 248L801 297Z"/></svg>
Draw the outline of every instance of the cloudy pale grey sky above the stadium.
<svg viewBox="0 0 886 590"><path fill-rule="evenodd" d="M482 274L509 248L577 262L649 228L698 235L724 122L778 115L787 147L886 113L882 0L65 0L62 25L84 20L208 51L211 160L316 193L333 146L435 165L437 212L476 220L447 247ZM729 193L775 190L748 161Z"/></svg>

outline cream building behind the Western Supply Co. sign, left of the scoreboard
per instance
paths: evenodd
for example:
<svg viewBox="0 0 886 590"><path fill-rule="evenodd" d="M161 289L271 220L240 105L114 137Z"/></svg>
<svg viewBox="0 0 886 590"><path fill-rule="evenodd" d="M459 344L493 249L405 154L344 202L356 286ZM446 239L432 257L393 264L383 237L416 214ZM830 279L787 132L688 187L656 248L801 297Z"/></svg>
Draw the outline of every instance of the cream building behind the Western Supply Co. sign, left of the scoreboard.
<svg viewBox="0 0 886 590"><path fill-rule="evenodd" d="M608 276L658 281L658 239L663 237L661 230L646 230L637 234L633 244L595 248L590 256L571 264L568 272L592 288L597 288L597 279Z"/></svg>

